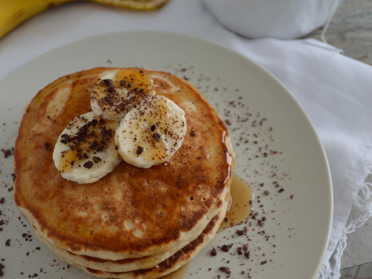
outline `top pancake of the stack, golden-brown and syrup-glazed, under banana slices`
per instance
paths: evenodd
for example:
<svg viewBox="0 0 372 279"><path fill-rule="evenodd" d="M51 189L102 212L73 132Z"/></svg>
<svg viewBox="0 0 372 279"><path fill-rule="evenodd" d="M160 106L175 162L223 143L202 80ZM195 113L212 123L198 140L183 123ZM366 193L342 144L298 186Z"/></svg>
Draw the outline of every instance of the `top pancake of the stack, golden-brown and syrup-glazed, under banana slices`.
<svg viewBox="0 0 372 279"><path fill-rule="evenodd" d="M91 111L97 79L118 70L70 74L38 92L20 123L14 165L14 198L32 214L29 221L61 249L109 260L162 254L195 239L224 201L234 157L227 127L195 87L147 71L157 94L186 112L180 149L149 169L123 161L90 184L62 178L52 159L58 136L74 117Z"/></svg>

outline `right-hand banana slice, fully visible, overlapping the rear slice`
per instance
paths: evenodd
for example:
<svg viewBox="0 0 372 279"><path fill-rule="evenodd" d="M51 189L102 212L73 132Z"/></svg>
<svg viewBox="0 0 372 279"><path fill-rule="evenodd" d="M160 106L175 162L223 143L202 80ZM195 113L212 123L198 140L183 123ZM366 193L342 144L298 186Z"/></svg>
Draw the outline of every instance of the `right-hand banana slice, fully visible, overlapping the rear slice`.
<svg viewBox="0 0 372 279"><path fill-rule="evenodd" d="M185 133L185 111L167 97L153 95L125 115L115 143L124 161L147 169L169 160L182 145Z"/></svg>

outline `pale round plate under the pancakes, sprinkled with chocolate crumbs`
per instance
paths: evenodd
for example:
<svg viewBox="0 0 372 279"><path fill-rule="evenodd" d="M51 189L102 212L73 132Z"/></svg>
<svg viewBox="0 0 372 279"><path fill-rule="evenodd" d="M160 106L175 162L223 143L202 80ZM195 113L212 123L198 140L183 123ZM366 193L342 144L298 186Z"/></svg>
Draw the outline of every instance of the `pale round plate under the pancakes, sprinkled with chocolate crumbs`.
<svg viewBox="0 0 372 279"><path fill-rule="evenodd" d="M139 66L189 78L231 124L235 173L251 185L256 196L254 209L266 221L260 227L257 220L249 220L249 240L235 233L244 224L218 233L187 265L185 278L215 278L218 274L225 278L221 266L230 268L232 278L247 278L248 273L255 279L316 278L332 217L330 172L323 147L288 90L263 68L227 48L185 35L140 31L94 36L49 51L0 83L1 125L5 123L1 148L13 146L15 122L39 89L65 74L98 66ZM0 257L5 259L1 262L6 266L5 278L22 278L21 272L48 279L94 277L67 268L36 238L8 191L13 159L0 157L0 198L5 198L0 204L0 220L6 221L1 226ZM275 187L275 182L280 186ZM279 193L281 188L284 191ZM23 233L31 234L32 241L26 241ZM10 247L4 246L7 239ZM246 243L249 260L237 254L237 247ZM226 253L218 248L222 244L233 245ZM217 247L216 257L210 256L212 247Z"/></svg>

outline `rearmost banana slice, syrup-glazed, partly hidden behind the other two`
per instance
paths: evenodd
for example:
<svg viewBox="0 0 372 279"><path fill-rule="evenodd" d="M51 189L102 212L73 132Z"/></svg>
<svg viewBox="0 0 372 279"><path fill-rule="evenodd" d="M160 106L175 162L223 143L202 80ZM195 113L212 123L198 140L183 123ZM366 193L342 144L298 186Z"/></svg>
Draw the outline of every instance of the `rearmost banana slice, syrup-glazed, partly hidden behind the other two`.
<svg viewBox="0 0 372 279"><path fill-rule="evenodd" d="M90 106L96 115L120 122L135 103L154 94L154 83L144 71L127 69L102 77L90 94Z"/></svg>

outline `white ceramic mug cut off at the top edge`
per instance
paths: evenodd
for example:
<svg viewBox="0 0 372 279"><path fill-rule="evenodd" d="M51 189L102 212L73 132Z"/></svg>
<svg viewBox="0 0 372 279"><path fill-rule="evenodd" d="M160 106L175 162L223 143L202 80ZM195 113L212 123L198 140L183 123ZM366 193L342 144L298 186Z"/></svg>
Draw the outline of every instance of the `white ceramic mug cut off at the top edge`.
<svg viewBox="0 0 372 279"><path fill-rule="evenodd" d="M293 39L323 26L342 0L203 0L228 29L248 38Z"/></svg>

